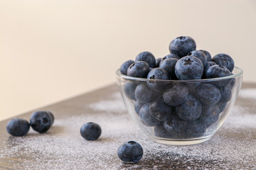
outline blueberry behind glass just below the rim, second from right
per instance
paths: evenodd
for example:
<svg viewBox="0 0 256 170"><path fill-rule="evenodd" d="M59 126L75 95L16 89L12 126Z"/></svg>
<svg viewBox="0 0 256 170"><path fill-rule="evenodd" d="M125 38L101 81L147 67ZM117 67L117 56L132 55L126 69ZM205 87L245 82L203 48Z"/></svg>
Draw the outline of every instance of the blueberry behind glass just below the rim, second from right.
<svg viewBox="0 0 256 170"><path fill-rule="evenodd" d="M213 84L200 84L196 88L195 96L203 104L215 104L220 101L220 90Z"/></svg>

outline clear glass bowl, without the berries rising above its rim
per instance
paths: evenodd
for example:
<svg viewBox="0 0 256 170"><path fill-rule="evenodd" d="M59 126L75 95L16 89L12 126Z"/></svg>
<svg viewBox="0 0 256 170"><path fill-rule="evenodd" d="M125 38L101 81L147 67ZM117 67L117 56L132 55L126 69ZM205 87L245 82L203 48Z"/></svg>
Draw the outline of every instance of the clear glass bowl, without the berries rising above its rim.
<svg viewBox="0 0 256 170"><path fill-rule="evenodd" d="M242 85L242 69L215 79L149 80L117 70L129 115L151 139L166 145L205 142L228 118Z"/></svg>

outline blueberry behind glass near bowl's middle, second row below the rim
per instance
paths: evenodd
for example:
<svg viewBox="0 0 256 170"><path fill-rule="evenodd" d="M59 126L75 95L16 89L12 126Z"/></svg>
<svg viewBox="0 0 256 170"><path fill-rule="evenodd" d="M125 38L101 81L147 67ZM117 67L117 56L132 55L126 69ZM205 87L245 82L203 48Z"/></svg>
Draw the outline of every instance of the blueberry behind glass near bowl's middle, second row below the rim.
<svg viewBox="0 0 256 170"><path fill-rule="evenodd" d="M183 120L196 120L202 113L201 103L192 95L188 95L186 101L176 106L176 114Z"/></svg>

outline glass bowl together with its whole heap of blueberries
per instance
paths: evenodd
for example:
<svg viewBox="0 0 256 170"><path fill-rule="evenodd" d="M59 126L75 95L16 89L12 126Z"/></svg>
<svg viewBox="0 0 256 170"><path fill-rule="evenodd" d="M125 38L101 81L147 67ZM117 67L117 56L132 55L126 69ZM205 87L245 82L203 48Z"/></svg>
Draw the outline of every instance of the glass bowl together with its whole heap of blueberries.
<svg viewBox="0 0 256 170"><path fill-rule="evenodd" d="M147 52L148 60L147 55L137 57L128 67L127 72L136 74L117 69L120 94L129 115L151 140L166 145L205 142L228 118L243 71L230 55L210 58L208 51L196 50L191 37L176 38L169 50L180 58L159 59L149 69L145 61L154 61L154 55Z"/></svg>

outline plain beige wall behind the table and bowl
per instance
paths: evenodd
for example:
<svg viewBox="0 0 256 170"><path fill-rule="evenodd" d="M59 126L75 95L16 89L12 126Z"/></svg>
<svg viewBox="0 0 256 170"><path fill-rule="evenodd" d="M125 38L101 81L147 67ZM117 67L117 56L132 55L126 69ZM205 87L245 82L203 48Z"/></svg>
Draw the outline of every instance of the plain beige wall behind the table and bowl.
<svg viewBox="0 0 256 170"><path fill-rule="evenodd" d="M0 0L0 120L115 83L122 62L189 35L256 82L255 0Z"/></svg>

